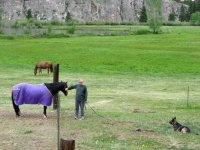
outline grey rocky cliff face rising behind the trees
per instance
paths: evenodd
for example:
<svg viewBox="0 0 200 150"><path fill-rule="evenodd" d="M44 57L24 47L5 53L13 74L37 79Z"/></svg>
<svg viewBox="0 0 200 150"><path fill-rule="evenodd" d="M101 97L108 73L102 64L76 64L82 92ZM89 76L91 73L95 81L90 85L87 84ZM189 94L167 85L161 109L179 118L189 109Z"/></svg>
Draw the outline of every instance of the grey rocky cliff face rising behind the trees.
<svg viewBox="0 0 200 150"><path fill-rule="evenodd" d="M138 21L145 0L0 0L3 18L25 18L27 10L39 20L57 18L64 21L67 14L79 21L109 20ZM180 13L181 4L163 0L163 16Z"/></svg>

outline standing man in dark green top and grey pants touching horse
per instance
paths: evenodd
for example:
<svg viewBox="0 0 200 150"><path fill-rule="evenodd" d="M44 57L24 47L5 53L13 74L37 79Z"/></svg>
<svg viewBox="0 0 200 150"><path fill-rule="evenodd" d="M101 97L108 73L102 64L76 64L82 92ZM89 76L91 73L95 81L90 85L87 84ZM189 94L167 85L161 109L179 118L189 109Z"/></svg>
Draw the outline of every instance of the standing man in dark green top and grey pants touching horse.
<svg viewBox="0 0 200 150"><path fill-rule="evenodd" d="M76 89L76 98L75 98L75 119L78 119L78 113L79 113L79 106L81 108L81 119L84 119L84 107L85 102L87 102L87 87L83 84L83 80L79 79L79 84L70 86L66 88L65 90L72 90Z"/></svg>

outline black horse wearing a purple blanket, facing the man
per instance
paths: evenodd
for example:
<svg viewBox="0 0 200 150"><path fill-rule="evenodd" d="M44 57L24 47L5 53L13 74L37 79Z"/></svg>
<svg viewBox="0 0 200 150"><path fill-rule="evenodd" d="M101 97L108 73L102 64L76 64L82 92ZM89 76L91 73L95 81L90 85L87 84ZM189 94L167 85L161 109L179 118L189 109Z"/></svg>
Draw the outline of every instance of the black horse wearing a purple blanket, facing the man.
<svg viewBox="0 0 200 150"><path fill-rule="evenodd" d="M51 106L53 96L59 91L62 91L64 95L67 96L68 92L65 91L67 87L67 82L43 83L37 85L20 83L13 86L12 103L16 116L19 117L21 115L19 105L41 104L44 106L44 118L47 118L47 106Z"/></svg>

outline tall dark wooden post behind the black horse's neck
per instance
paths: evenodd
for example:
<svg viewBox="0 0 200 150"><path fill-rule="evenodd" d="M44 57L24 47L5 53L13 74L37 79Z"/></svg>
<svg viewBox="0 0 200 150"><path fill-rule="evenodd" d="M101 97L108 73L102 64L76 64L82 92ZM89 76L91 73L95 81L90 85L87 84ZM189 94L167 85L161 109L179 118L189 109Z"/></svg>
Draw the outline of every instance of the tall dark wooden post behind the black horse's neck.
<svg viewBox="0 0 200 150"><path fill-rule="evenodd" d="M54 65L53 69L53 82L58 82L59 81L59 64ZM57 97L58 95L56 94L53 97L53 109L57 109Z"/></svg>

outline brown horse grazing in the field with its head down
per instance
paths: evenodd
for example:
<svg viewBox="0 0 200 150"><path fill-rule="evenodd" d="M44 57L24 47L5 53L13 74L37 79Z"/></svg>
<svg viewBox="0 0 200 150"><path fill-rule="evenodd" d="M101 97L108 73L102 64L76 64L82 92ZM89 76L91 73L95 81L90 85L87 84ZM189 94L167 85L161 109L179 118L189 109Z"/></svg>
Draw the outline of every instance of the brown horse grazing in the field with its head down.
<svg viewBox="0 0 200 150"><path fill-rule="evenodd" d="M39 61L34 68L34 74L37 74L37 69L39 68L39 73L42 73L42 69L47 69L47 73L49 74L49 70L51 73L53 72L53 64L50 61Z"/></svg>

